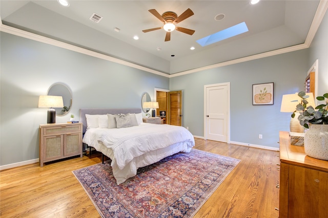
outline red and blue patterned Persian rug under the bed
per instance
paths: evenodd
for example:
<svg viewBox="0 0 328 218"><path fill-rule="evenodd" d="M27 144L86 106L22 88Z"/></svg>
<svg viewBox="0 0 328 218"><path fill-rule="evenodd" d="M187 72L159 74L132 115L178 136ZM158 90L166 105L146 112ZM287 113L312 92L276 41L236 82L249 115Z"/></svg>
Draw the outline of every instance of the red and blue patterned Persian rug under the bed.
<svg viewBox="0 0 328 218"><path fill-rule="evenodd" d="M73 173L102 217L192 217L240 160L192 149L117 185L111 161Z"/></svg>

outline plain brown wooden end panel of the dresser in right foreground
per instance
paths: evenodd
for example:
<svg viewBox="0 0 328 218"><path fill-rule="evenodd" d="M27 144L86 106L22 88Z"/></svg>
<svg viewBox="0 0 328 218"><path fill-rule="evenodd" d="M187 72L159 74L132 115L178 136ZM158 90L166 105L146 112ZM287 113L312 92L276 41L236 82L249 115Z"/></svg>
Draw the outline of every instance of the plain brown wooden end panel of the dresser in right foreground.
<svg viewBox="0 0 328 218"><path fill-rule="evenodd" d="M289 217L327 217L328 173L290 165Z"/></svg>

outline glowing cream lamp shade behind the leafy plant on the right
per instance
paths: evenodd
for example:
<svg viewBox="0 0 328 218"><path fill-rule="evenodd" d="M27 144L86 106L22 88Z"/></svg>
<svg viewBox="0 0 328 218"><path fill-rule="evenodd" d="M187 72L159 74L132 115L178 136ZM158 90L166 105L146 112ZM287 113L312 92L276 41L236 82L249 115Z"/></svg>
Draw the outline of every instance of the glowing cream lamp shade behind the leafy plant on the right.
<svg viewBox="0 0 328 218"><path fill-rule="evenodd" d="M309 98L306 98L306 100L309 102L308 104L306 104L306 106L311 105L313 106L313 108L315 108L313 93L305 94L309 96ZM280 112L294 112L296 110L296 105L299 104L300 101L301 98L297 94L283 95L281 100Z"/></svg>

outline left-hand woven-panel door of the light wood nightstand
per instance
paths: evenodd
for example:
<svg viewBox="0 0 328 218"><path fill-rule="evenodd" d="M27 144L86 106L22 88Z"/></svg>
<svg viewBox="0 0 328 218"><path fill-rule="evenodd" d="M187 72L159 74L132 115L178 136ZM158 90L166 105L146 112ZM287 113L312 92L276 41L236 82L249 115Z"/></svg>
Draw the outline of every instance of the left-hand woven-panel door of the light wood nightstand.
<svg viewBox="0 0 328 218"><path fill-rule="evenodd" d="M44 137L43 160L63 157L63 135Z"/></svg>

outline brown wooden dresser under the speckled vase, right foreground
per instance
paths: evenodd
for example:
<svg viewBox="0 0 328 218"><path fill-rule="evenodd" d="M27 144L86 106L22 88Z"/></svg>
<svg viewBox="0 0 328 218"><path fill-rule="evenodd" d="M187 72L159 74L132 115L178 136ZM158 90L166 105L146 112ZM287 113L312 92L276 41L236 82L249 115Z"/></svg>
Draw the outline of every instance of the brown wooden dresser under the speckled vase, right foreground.
<svg viewBox="0 0 328 218"><path fill-rule="evenodd" d="M289 132L280 132L279 141L279 218L328 217L328 161L291 145Z"/></svg>

